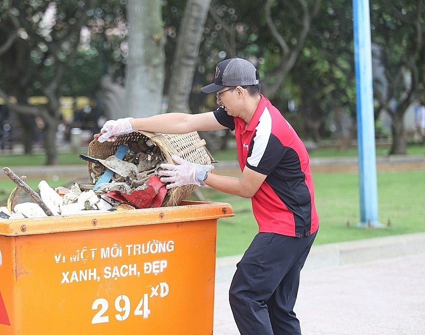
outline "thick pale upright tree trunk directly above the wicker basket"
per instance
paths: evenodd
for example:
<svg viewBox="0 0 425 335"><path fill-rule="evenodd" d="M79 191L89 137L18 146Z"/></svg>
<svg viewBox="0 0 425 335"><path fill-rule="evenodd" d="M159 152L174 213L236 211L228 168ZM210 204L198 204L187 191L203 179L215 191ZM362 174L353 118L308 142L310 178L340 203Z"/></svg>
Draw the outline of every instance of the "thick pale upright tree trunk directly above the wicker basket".
<svg viewBox="0 0 425 335"><path fill-rule="evenodd" d="M164 85L164 29L161 0L128 0L127 115L159 114Z"/></svg>

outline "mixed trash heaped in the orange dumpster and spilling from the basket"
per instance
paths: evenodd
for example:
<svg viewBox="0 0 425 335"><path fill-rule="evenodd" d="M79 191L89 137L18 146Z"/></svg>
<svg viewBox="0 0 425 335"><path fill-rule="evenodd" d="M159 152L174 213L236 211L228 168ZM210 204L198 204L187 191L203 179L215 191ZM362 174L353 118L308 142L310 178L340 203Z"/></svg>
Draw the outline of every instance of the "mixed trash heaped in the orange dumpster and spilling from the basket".
<svg viewBox="0 0 425 335"><path fill-rule="evenodd" d="M16 184L7 207L0 207L1 218L29 218L87 213L91 210L139 209L161 206L167 189L157 176L165 162L161 150L149 139L139 138L119 144L114 155L105 159L80 154L88 161L92 183L52 188L45 180L38 183L39 195L8 167L3 171ZM18 203L22 191L35 202Z"/></svg>

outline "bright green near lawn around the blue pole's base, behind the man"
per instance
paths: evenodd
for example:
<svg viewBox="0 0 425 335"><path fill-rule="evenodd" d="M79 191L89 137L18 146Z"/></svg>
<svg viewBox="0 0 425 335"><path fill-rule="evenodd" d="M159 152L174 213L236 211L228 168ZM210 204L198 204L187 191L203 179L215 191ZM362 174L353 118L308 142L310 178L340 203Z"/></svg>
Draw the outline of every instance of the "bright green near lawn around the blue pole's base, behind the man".
<svg viewBox="0 0 425 335"><path fill-rule="evenodd" d="M378 217L384 228L357 226L360 209L356 173L316 173L313 178L320 216L315 244L425 231L423 171L377 174ZM257 232L250 200L206 188L202 194L212 201L230 203L235 213L234 217L218 220L217 256L243 253Z"/></svg>

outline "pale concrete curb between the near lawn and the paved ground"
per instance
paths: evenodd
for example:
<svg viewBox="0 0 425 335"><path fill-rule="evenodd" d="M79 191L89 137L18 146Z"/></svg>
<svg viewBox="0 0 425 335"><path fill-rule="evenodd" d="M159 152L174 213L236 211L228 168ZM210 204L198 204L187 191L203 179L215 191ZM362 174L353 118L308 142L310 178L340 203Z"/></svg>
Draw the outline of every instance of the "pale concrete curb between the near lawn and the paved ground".
<svg viewBox="0 0 425 335"><path fill-rule="evenodd" d="M313 270L425 253L425 232L313 245L303 269ZM215 281L231 280L242 255L217 257Z"/></svg>

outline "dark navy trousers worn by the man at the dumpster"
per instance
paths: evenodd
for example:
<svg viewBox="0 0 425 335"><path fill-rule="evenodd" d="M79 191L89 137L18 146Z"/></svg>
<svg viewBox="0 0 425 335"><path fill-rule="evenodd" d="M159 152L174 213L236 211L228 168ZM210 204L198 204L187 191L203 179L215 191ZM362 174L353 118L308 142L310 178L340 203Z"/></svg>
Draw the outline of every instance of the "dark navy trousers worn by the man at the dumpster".
<svg viewBox="0 0 425 335"><path fill-rule="evenodd" d="M230 284L229 302L242 335L301 334L293 311L299 272L316 236L255 235Z"/></svg>

